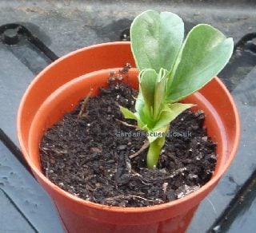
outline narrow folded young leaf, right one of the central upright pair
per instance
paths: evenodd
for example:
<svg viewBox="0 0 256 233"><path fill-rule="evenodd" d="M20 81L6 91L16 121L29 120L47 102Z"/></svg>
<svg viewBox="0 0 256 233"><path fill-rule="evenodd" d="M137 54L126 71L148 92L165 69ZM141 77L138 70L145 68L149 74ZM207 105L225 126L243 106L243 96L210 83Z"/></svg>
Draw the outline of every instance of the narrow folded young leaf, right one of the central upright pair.
<svg viewBox="0 0 256 233"><path fill-rule="evenodd" d="M158 119L166 95L166 78L168 71L160 69L154 89L154 120Z"/></svg>

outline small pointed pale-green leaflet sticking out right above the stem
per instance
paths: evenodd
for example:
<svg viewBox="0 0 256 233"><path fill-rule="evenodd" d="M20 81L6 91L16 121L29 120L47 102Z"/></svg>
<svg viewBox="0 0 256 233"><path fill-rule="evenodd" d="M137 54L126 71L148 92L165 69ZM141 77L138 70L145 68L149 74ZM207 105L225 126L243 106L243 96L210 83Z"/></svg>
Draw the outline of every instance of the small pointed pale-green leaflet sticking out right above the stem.
<svg viewBox="0 0 256 233"><path fill-rule="evenodd" d="M174 120L180 113L186 109L190 109L193 106L194 105L192 104L182 103L165 105L165 108L162 109L160 119L158 120L157 124L154 125L153 131L157 131L159 128L166 127L166 125L169 125L170 122Z"/></svg>

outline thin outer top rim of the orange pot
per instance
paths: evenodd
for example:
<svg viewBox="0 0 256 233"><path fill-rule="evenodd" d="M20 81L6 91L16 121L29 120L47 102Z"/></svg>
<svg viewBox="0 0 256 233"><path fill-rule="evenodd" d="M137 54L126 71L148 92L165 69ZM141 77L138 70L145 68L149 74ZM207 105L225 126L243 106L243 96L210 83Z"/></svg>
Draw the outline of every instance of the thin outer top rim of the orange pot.
<svg viewBox="0 0 256 233"><path fill-rule="evenodd" d="M214 77L214 79L215 79L215 81L218 82L218 85L220 85L220 87L226 93L226 97L229 99L230 104L232 105L233 112L234 112L234 117L235 117L234 128L236 128L235 137L234 137L234 146L233 146L233 148L230 152L230 156L226 160L226 163L223 165L222 170L220 170L220 172L218 172L218 173L215 173L215 175L206 184L204 184L201 188L198 188L197 191L192 192L189 195L186 195L182 199L175 199L173 201L170 201L169 203L161 203L161 204L150 206L150 207L112 207L112 206L102 205L102 204L99 204L99 203L93 203L93 202L90 202L90 201L86 201L85 199L81 199L79 197L76 197L76 196L70 194L69 192L66 192L66 191L62 190L62 188L59 188L57 185L53 184L50 180L48 180L46 178L46 176L44 176L42 174L42 172L39 171L39 169L36 168L36 166L32 163L32 160L30 159L30 156L29 156L28 152L26 151L25 145L23 144L22 129L21 129L22 111L23 111L23 108L24 108L24 105L25 105L25 102L26 102L26 98L29 97L30 89L32 89L33 86L37 84L38 80L40 79L40 77L44 73L47 73L48 70L51 69L51 67L58 64L59 62L62 62L66 58L72 57L77 53L84 52L87 49L94 49L94 48L99 48L99 47L102 47L102 46L113 46L113 45L130 45L130 42L129 41L117 41L117 42L108 42L108 43L102 43L102 44L97 44L97 45L90 45L88 47L78 49L78 50L73 51L71 53L67 53L65 56L58 58L58 60L56 60L53 63L51 63L50 65L48 65L45 69L42 70L42 72L38 73L38 75L34 78L34 80L30 83L29 87L26 89L26 93L22 97L22 101L21 101L21 103L19 105L19 108L18 108L17 131L18 131L18 141L19 141L19 144L22 148L23 156L25 157L26 162L29 164L30 168L32 169L34 175L38 176L38 178L40 180L42 180L42 182L46 183L50 188L54 189L56 192L58 192L62 196L65 196L70 201L74 201L76 203L80 203L82 205L86 205L88 207L92 207L92 208L98 209L98 210L105 209L107 211L126 212L126 213L133 213L133 212L138 212L138 211L139 212L160 211L162 209L175 207L175 206L177 206L181 203L189 202L191 199L194 199L194 197L196 197L197 195L198 196L202 195L202 192L205 189L210 190L211 188L213 188L214 184L217 183L218 180L220 180L223 173L226 172L227 168L231 164L231 161L234 159L234 155L237 152L238 143L239 143L239 139L240 139L240 119L239 119L239 116L238 116L238 109L237 109L237 107L234 103L233 97L231 96L229 91L226 89L226 86L222 83L222 81L220 81L218 79L218 77Z"/></svg>

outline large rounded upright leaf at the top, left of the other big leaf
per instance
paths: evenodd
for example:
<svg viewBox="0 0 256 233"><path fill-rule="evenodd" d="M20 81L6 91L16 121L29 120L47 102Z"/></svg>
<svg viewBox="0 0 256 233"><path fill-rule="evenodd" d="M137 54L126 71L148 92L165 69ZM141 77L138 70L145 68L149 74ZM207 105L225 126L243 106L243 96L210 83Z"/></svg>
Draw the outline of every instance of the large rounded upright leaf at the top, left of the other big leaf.
<svg viewBox="0 0 256 233"><path fill-rule="evenodd" d="M137 68L170 71L182 47L184 23L170 12L146 10L130 27L131 49Z"/></svg>

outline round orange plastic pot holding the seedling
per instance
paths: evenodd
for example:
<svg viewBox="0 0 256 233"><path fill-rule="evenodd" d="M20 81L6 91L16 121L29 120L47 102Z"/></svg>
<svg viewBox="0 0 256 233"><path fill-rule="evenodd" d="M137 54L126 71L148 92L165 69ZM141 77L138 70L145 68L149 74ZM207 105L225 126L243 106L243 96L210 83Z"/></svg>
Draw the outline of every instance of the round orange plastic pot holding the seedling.
<svg viewBox="0 0 256 233"><path fill-rule="evenodd" d="M79 199L63 191L42 174L38 144L46 128L74 109L90 88L97 94L108 73L126 62L134 66L129 42L114 42L79 49L54 61L26 90L18 110L18 140L34 176L50 194L63 226L69 232L183 232L198 204L216 186L238 148L238 111L226 87L217 77L198 93L186 98L206 113L206 127L218 142L218 162L211 180L182 199L154 207L108 207ZM125 81L138 88L138 71L131 69Z"/></svg>

